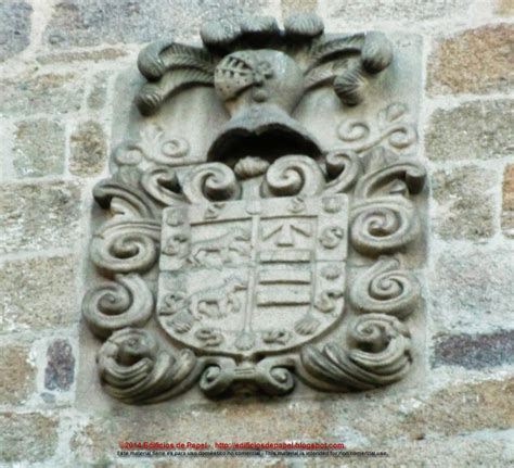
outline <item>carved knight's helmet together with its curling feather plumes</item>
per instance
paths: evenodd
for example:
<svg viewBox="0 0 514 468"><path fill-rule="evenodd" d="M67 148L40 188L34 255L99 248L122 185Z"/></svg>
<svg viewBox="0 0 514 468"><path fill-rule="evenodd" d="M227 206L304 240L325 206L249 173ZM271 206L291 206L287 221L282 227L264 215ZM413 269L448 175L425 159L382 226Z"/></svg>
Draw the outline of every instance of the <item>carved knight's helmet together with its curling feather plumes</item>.
<svg viewBox="0 0 514 468"><path fill-rule="evenodd" d="M283 30L271 17L207 23L201 37L204 48L156 42L141 52L138 65L149 83L137 104L150 115L184 87L214 87L230 119L210 143L207 161L229 165L247 155L321 155L320 142L293 116L301 98L332 85L343 104L356 105L370 78L393 60L383 34L331 38L312 14L286 18Z"/></svg>

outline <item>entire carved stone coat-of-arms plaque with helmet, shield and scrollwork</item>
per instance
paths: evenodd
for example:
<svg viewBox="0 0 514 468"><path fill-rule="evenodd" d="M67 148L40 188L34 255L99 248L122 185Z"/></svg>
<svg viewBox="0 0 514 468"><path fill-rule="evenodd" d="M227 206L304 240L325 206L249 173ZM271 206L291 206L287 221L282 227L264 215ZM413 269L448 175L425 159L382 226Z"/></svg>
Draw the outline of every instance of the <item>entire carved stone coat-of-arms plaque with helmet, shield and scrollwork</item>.
<svg viewBox="0 0 514 468"><path fill-rule="evenodd" d="M119 89L112 177L93 191L104 280L82 308L105 391L402 379L421 313L415 38L325 35L310 14L201 38L147 46Z"/></svg>

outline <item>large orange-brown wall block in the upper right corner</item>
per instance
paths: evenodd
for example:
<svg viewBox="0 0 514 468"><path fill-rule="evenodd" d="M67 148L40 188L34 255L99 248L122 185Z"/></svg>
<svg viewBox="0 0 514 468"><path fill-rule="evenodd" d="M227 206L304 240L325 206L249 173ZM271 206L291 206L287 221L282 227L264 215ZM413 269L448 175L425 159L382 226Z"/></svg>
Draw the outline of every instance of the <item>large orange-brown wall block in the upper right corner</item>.
<svg viewBox="0 0 514 468"><path fill-rule="evenodd" d="M507 91L514 79L514 25L499 24L442 39L429 59L428 91Z"/></svg>

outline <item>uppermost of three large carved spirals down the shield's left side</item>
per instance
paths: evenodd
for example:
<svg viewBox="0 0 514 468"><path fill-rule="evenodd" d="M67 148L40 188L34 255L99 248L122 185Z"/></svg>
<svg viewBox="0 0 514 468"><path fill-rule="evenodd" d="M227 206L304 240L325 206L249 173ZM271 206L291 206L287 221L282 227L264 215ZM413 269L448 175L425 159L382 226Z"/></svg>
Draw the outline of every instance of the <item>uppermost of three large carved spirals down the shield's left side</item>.
<svg viewBox="0 0 514 468"><path fill-rule="evenodd" d="M95 232L91 261L105 271L146 271L157 260L160 225L154 219L107 224Z"/></svg>

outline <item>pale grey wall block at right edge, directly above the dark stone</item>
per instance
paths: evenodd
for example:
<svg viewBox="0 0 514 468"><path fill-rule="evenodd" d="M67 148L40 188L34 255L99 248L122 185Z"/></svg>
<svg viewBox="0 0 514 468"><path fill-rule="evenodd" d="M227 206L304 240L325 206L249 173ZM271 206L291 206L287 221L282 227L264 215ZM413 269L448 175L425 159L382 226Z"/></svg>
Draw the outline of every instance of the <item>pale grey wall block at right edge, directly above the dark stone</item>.
<svg viewBox="0 0 514 468"><path fill-rule="evenodd" d="M429 275L432 317L441 333L487 333L514 322L507 249L446 249Z"/></svg>

